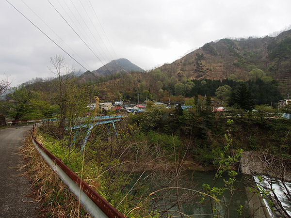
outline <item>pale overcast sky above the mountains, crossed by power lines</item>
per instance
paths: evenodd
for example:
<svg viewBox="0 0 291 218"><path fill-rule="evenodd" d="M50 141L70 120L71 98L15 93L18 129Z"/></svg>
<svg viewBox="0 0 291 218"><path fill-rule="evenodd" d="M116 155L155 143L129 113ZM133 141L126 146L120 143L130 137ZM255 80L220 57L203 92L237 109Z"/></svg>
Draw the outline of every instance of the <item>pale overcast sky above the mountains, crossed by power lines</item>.
<svg viewBox="0 0 291 218"><path fill-rule="evenodd" d="M207 42L291 27L291 0L8 1L0 1L0 77L14 86L54 76L55 55L81 71L118 58L149 70Z"/></svg>

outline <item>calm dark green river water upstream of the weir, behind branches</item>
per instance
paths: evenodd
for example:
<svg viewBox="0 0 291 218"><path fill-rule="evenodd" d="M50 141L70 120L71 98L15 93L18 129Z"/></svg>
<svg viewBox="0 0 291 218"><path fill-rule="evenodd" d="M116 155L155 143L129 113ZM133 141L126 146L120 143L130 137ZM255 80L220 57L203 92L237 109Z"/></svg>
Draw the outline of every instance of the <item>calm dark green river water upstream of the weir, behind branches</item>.
<svg viewBox="0 0 291 218"><path fill-rule="evenodd" d="M198 191L202 191L204 192L203 189L203 184L209 184L210 186L213 184L213 178L215 176L216 171L185 171L184 172L185 176L183 176L184 181L187 180L186 183L189 184L189 186L186 186L186 188L191 188L191 185L195 185L194 190L198 190ZM141 174L135 174L134 177L138 178ZM143 178L147 178L150 175L150 173L145 173L143 175ZM161 177L160 177L161 179ZM223 175L222 178L220 178L218 180L218 182L215 184L215 187L223 187L225 185L225 180L228 180L228 175L227 173L225 175ZM166 179L165 179L166 180ZM226 209L225 206L221 206L216 204L216 209L219 210L219 213L217 213L216 215L219 215L218 217L225 217L225 218L245 218L245 217L249 217L249 209L247 208L247 198L245 195L245 187L242 184L242 182L244 182L244 180L242 179L242 176L238 175L236 176L236 180L240 181L241 183L235 182L234 185L235 187L238 187L238 191L235 192L235 194L233 194L231 196L230 192L228 190L225 190L225 192L223 193L223 196L218 197L218 199L221 202L225 202L227 205L229 203L229 200L231 198L231 204L228 205L229 209ZM164 181L159 181L155 180L157 183L161 182L164 183ZM150 181L148 181L149 184L151 183ZM184 186L185 187L185 186ZM155 191L155 189L150 188L151 191ZM183 191L180 191L180 195L182 194ZM171 191L172 196L175 196L175 190ZM159 196L160 199L162 199L162 196ZM209 201L209 198L206 197L205 201L203 203L200 202L202 198L202 195L198 195L196 198L194 198L193 202L189 202L189 203L183 203L181 205L181 212L183 214L187 214L188 217L191 218L210 218L213 217L212 216L212 207ZM165 200L162 200L162 203L165 203ZM238 212L237 209L239 209L239 206L242 205L243 209L242 209L242 215L238 216ZM178 210L177 207L173 207L171 208L172 211ZM173 217L180 217L180 214L178 212L170 212L168 211L166 213L168 216L172 215ZM165 214L163 214L164 216L162 217L166 217ZM184 216L187 217L187 216Z"/></svg>

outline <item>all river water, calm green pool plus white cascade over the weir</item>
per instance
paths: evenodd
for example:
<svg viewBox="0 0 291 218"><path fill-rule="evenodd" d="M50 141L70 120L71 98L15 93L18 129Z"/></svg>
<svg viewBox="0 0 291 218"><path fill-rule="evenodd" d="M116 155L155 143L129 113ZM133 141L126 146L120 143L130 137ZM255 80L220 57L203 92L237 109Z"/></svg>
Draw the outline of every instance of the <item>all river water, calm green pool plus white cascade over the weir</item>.
<svg viewBox="0 0 291 218"><path fill-rule="evenodd" d="M216 171L185 171L184 172L186 176L185 179L189 180L191 183L195 184L194 190L205 192L203 188L203 184L208 184L210 187L213 185L214 177ZM143 177L147 178L150 173L146 173ZM137 173L134 175L135 178L138 178L141 174ZM227 181L229 178L228 174L225 173L222 178L220 178L216 183L215 187L224 187L225 181ZM251 217L251 210L250 207L253 207L253 205L250 205L247 198L247 192L248 187L255 187L255 182L252 182L252 177L247 176L244 177L242 175L236 176L236 182L234 182L234 188L236 191L234 194L231 194L228 189L226 189L222 195L218 196L218 199L220 200L220 203L215 204L216 210L218 211L214 215L218 215L218 217L224 217L224 218L245 218L245 217ZM253 177L253 180L258 182L257 177ZM268 183L265 180L261 183L263 187L266 189L268 188ZM158 181L159 183L159 181ZM162 183L162 181L161 181ZM274 185L273 188L275 188L275 193L277 196L279 196L280 200L282 201L282 204L286 208L287 211L289 211L289 216L291 216L291 205L290 202L288 202L287 198L284 196L284 193L282 190L284 187L280 185L280 183L273 181ZM291 192L291 183L286 183L286 185L289 187L289 191ZM155 191L155 190L152 190ZM175 195L175 192L173 192L173 195ZM187 217L190 218L210 218L213 217L212 215L212 206L210 204L209 198L205 197L205 200L201 203L200 200L202 199L202 195L199 195L196 197L196 199L191 203L184 203L181 205L181 212L183 214L186 214ZM265 204L268 206L268 201L264 201ZM254 202L253 202L254 203ZM227 207L225 206L227 205ZM239 216L238 210L242 206L242 212ZM172 208L173 211L178 210L178 208ZM271 210L269 210L270 217L276 218L278 216L272 215ZM180 215L177 212L169 212L168 215L173 215L173 217L180 217Z"/></svg>

